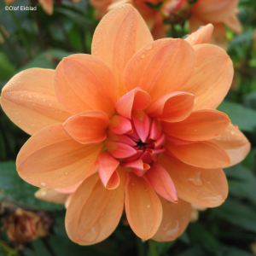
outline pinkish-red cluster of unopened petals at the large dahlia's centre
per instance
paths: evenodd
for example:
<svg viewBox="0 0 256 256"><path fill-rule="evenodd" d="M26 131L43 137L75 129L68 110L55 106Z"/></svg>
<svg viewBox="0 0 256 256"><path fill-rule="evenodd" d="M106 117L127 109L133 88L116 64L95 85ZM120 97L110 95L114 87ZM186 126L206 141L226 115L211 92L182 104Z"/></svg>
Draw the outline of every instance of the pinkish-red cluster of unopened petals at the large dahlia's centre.
<svg viewBox="0 0 256 256"><path fill-rule="evenodd" d="M160 121L150 118L143 110L133 110L131 119L114 116L108 129L105 143L108 153L137 176L143 176L166 150Z"/></svg>

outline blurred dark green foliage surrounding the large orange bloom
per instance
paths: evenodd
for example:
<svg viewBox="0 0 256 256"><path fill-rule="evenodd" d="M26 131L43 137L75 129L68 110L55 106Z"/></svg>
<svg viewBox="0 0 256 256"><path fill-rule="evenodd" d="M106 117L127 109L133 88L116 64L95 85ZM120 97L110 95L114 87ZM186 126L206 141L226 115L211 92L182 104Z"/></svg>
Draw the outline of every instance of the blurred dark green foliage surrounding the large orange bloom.
<svg viewBox="0 0 256 256"><path fill-rule="evenodd" d="M29 0L17 0L12 6L29 6ZM0 87L23 69L55 68L61 59L73 53L89 53L97 21L90 4L62 1L54 14L38 11L6 11L0 0ZM65 208L39 201L33 194L38 188L24 182L15 171L15 158L29 137L0 109L0 214L3 205L44 210L55 219L48 238L17 247L9 241L6 230L0 231L0 255L69 256L69 255L138 255L138 256L252 256L256 255L256 1L240 0L239 19L243 32L227 30L228 54L235 67L230 92L219 110L229 114L250 142L252 150L241 164L224 170L230 195L221 207L200 212L176 241L141 241L125 217L106 241L80 247L67 237ZM180 34L180 32L178 32ZM183 36L183 35L181 35ZM0 215L0 218L3 214ZM3 220L3 219L2 219ZM3 225L3 224L1 224Z"/></svg>

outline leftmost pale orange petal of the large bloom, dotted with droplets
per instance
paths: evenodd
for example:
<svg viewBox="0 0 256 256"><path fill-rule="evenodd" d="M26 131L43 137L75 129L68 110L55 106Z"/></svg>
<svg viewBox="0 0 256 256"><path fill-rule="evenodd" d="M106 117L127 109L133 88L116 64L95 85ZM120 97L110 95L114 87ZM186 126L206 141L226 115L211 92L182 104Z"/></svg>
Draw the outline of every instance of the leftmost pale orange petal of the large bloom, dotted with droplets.
<svg viewBox="0 0 256 256"><path fill-rule="evenodd" d="M54 73L52 69L26 69L3 87L3 111L28 134L48 125L63 123L71 115L61 108L56 99Z"/></svg>

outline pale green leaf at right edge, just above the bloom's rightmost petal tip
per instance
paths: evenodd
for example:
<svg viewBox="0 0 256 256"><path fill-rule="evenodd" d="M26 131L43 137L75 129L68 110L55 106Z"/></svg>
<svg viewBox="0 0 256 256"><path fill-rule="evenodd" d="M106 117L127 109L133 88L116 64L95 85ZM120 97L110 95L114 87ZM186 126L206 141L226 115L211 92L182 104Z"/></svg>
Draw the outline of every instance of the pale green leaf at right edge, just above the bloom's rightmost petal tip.
<svg viewBox="0 0 256 256"><path fill-rule="evenodd" d="M256 126L256 111L245 108L234 102L222 102L218 110L229 115L233 124L238 125L241 131L253 131Z"/></svg>

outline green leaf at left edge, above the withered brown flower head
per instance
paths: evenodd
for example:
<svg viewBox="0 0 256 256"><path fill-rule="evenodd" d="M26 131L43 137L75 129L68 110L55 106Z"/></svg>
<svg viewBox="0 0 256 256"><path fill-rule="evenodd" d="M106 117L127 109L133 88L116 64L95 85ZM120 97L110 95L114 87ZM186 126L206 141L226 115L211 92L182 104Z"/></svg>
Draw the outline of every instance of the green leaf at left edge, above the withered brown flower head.
<svg viewBox="0 0 256 256"><path fill-rule="evenodd" d="M0 177L0 189L3 190L0 200L3 197L10 196L15 201L32 207L38 207L39 209L56 210L64 208L63 205L57 205L35 198L34 194L38 188L26 183L20 178L18 172L16 172L14 161L0 163Z"/></svg>

